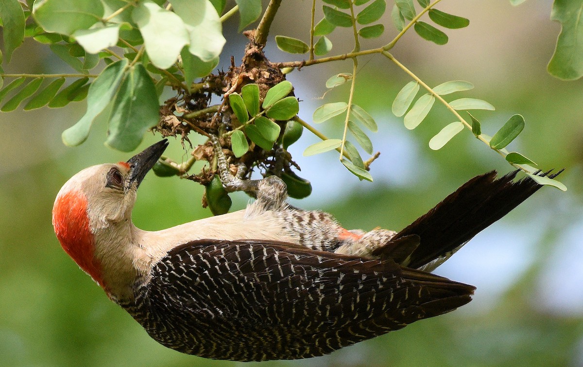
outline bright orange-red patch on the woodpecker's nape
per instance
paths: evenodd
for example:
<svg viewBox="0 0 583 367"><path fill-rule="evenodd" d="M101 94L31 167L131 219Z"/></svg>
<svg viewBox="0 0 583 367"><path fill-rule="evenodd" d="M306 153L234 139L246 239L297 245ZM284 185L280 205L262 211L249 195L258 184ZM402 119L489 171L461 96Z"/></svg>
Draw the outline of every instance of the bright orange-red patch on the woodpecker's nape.
<svg viewBox="0 0 583 367"><path fill-rule="evenodd" d="M65 252L103 287L99 261L94 258L95 245L85 195L78 191L59 195L52 208L52 226Z"/></svg>

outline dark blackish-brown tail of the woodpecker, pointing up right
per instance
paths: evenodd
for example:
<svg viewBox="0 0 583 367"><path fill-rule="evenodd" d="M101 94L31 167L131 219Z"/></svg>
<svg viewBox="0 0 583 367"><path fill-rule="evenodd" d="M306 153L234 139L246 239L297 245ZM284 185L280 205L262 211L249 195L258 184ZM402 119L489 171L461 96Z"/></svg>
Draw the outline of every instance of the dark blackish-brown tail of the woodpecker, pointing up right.
<svg viewBox="0 0 583 367"><path fill-rule="evenodd" d="M422 267L468 242L542 187L530 177L513 181L518 171L497 180L496 171L474 177L397 233L394 240L409 235L418 235L421 239L407 266ZM549 171L539 176L554 178L561 172L563 170L549 174ZM379 254L383 252L379 250Z"/></svg>

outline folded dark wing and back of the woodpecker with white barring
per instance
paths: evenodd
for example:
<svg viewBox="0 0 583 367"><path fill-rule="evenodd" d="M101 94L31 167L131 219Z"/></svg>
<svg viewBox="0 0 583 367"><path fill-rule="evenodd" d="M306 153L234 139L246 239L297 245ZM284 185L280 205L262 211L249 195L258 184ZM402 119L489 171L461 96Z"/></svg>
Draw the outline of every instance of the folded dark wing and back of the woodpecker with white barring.
<svg viewBox="0 0 583 367"><path fill-rule="evenodd" d="M474 289L391 260L198 240L161 259L124 307L167 347L262 361L328 354L454 310Z"/></svg>

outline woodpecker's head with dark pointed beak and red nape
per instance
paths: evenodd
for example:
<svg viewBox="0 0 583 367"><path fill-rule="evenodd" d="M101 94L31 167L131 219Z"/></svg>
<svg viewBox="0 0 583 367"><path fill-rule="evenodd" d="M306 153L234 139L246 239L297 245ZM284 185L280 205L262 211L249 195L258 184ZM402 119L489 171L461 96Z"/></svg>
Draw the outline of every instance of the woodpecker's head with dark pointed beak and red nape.
<svg viewBox="0 0 583 367"><path fill-rule="evenodd" d="M66 253L104 288L100 256L104 250L95 236L104 233L109 242L108 235L113 238L117 229L131 223L138 186L167 145L164 139L127 162L86 168L57 194L52 208L55 234Z"/></svg>

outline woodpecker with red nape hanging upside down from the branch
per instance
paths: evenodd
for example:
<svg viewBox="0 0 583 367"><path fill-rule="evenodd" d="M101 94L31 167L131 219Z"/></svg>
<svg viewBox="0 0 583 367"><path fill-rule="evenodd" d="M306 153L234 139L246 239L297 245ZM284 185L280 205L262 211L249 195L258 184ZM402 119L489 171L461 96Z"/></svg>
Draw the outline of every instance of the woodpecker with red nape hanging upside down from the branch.
<svg viewBox="0 0 583 367"><path fill-rule="evenodd" d="M244 210L149 232L132 208L167 145L73 176L52 223L66 253L154 340L214 359L324 355L465 305L474 286L430 272L540 188L490 172L400 232L363 232L292 207L272 176L251 184Z"/></svg>

